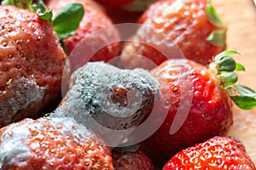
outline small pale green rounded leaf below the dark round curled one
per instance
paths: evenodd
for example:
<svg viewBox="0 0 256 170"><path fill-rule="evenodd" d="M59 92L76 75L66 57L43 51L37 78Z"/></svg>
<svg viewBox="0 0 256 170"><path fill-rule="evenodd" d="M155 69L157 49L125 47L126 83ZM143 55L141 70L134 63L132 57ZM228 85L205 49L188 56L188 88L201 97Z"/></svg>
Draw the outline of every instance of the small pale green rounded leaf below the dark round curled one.
<svg viewBox="0 0 256 170"><path fill-rule="evenodd" d="M235 72L224 72L218 75L218 79L222 82L224 88L230 87L237 82L237 75Z"/></svg>

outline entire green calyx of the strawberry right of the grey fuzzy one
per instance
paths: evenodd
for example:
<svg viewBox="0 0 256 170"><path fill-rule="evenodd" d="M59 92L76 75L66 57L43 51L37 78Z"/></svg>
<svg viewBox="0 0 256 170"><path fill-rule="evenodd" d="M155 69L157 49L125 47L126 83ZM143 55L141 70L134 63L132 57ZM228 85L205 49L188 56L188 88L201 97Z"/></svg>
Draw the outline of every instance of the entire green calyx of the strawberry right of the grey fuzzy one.
<svg viewBox="0 0 256 170"><path fill-rule="evenodd" d="M243 65L236 63L230 57L231 54L239 54L234 50L226 50L214 58L214 69L218 71L220 84L228 91L230 98L243 110L251 110L256 106L256 92L237 84L237 75L234 71L245 71Z"/></svg>

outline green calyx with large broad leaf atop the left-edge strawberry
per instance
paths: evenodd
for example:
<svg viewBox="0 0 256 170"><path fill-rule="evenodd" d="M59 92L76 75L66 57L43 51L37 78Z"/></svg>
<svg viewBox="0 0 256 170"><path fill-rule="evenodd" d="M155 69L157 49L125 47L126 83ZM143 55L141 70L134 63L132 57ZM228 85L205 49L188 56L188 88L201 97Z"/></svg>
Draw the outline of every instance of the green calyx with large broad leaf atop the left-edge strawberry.
<svg viewBox="0 0 256 170"><path fill-rule="evenodd" d="M2 4L14 5L17 8L25 8L37 13L42 20L47 20L52 24L60 41L74 34L84 16L84 7L80 3L70 3L62 8L53 20L51 8L47 8L43 0L38 0L37 3L33 3L32 0L3 0Z"/></svg>

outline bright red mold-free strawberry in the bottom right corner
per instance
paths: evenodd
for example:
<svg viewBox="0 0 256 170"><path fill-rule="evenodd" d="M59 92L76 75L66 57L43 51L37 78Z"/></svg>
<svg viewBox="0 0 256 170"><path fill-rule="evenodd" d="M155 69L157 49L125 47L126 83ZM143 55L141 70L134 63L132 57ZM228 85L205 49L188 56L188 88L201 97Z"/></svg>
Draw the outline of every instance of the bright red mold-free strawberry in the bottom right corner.
<svg viewBox="0 0 256 170"><path fill-rule="evenodd" d="M174 169L256 169L240 141L214 137L178 152L163 167Z"/></svg>

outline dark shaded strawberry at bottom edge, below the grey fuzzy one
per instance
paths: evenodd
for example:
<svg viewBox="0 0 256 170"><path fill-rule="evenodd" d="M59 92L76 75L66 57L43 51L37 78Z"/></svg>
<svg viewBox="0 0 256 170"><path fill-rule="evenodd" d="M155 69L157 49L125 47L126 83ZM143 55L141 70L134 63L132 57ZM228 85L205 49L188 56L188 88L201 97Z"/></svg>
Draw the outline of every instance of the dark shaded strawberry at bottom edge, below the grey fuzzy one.
<svg viewBox="0 0 256 170"><path fill-rule="evenodd" d="M113 151L113 168L116 170L154 170L152 161L143 151Z"/></svg>

